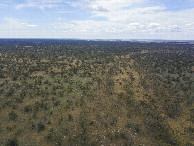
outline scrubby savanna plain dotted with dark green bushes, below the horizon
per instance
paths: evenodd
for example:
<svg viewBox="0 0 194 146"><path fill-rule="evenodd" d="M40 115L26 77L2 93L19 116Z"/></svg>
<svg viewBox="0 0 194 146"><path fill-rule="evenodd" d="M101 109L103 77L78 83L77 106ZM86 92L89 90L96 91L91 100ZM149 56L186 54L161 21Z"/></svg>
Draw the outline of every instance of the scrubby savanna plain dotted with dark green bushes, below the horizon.
<svg viewBox="0 0 194 146"><path fill-rule="evenodd" d="M0 145L194 145L194 44L0 40Z"/></svg>

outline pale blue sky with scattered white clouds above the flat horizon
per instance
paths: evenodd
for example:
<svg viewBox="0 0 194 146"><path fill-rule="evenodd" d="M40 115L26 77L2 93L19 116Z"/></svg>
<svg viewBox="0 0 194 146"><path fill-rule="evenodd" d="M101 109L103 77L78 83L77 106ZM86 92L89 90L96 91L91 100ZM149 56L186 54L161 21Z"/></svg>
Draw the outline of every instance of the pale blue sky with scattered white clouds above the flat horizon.
<svg viewBox="0 0 194 146"><path fill-rule="evenodd" d="M194 0L0 0L0 38L194 40Z"/></svg>

